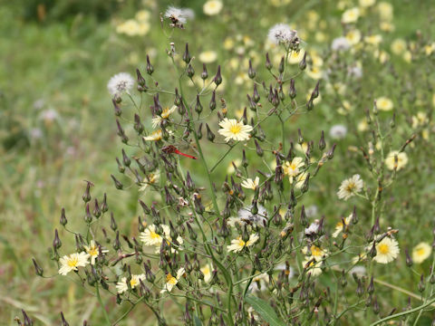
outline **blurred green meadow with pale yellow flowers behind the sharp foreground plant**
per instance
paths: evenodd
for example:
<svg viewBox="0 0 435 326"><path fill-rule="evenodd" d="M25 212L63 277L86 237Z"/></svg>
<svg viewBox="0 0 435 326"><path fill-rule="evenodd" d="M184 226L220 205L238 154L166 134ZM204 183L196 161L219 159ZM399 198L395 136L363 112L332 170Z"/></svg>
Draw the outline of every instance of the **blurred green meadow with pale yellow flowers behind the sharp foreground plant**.
<svg viewBox="0 0 435 326"><path fill-rule="evenodd" d="M218 64L222 66L222 96L227 109L237 117L247 105L246 94L251 90L247 86L246 58L258 67L264 67L266 52L275 65L281 58L267 42L267 32L274 24L286 23L295 28L304 41L303 47L311 54L313 62L304 76L306 85L313 88L324 72L335 72L321 82L321 100L315 104L314 113L304 119L296 117L286 129L288 139L294 141L297 129L302 129L308 139L318 139L324 130L327 142L337 143L333 160L322 170L304 202L305 206L316 206L331 227L336 221L333 216L347 214L342 211L349 209L335 196L341 181L355 173L363 177L366 169L359 151L359 147L367 146L364 110L372 108L374 99L391 101L399 126L391 149L400 149L413 134L416 138L409 148L407 168L401 171L386 199L385 224L400 229L401 248L411 250L420 242L431 244L435 214L435 136L430 120L435 105L433 2L385 0L364 6L364 1L358 0L226 0L217 14L205 13L205 3L0 3L0 324L13 324L21 309L36 324L59 324L61 311L72 325L83 320L103 324L92 293L68 278L36 276L32 258L43 266L45 275L57 274L46 248L53 241L54 228L59 227L63 207L69 225L80 225L77 221L83 215L84 180L92 181L92 193L97 197L107 193L123 234L136 232L138 198L144 195L136 190L120 192L113 187L111 174L117 173L115 158L120 157L122 147L106 85L117 72L134 75L136 68L144 71L148 54L160 81L173 88L165 54L171 41L180 53L184 43L189 43L190 52L198 57L197 72L201 71L199 62L208 63L210 75ZM169 5L190 8L195 15L184 31L175 31L170 41L160 25L160 13ZM360 17L353 34L349 34L341 21L343 12L353 7L360 8ZM355 30L360 37L354 35ZM351 48L341 54L341 61L330 65L333 40L341 36L347 38ZM300 59L295 58L295 69ZM346 81L346 72L340 70L340 65L349 62L361 70L362 77L356 82ZM391 111L382 111L380 116L388 126ZM337 135L330 132L334 125L346 130ZM280 134L272 130L268 137L278 139ZM216 161L221 153L208 151L207 155ZM232 157L226 158L218 171L221 179L230 173L227 167L232 160L240 160L240 153L233 152ZM369 208L356 205L363 221ZM60 230L60 235L63 246L73 248L73 238L64 230ZM416 273L407 269L403 249L394 266L381 266L377 275L418 292L419 273L429 270L425 264L430 264L430 259L414 264ZM325 277L324 283L328 282L335 281ZM382 302L385 310L406 304L403 292L391 292L388 287L379 291L390 293L390 302ZM115 308L114 297L107 300L111 318L116 320L126 307ZM433 312L425 312L420 324L430 325L432 317ZM343 324L352 323L346 322ZM150 312L137 309L120 324L148 325L155 321Z"/></svg>

